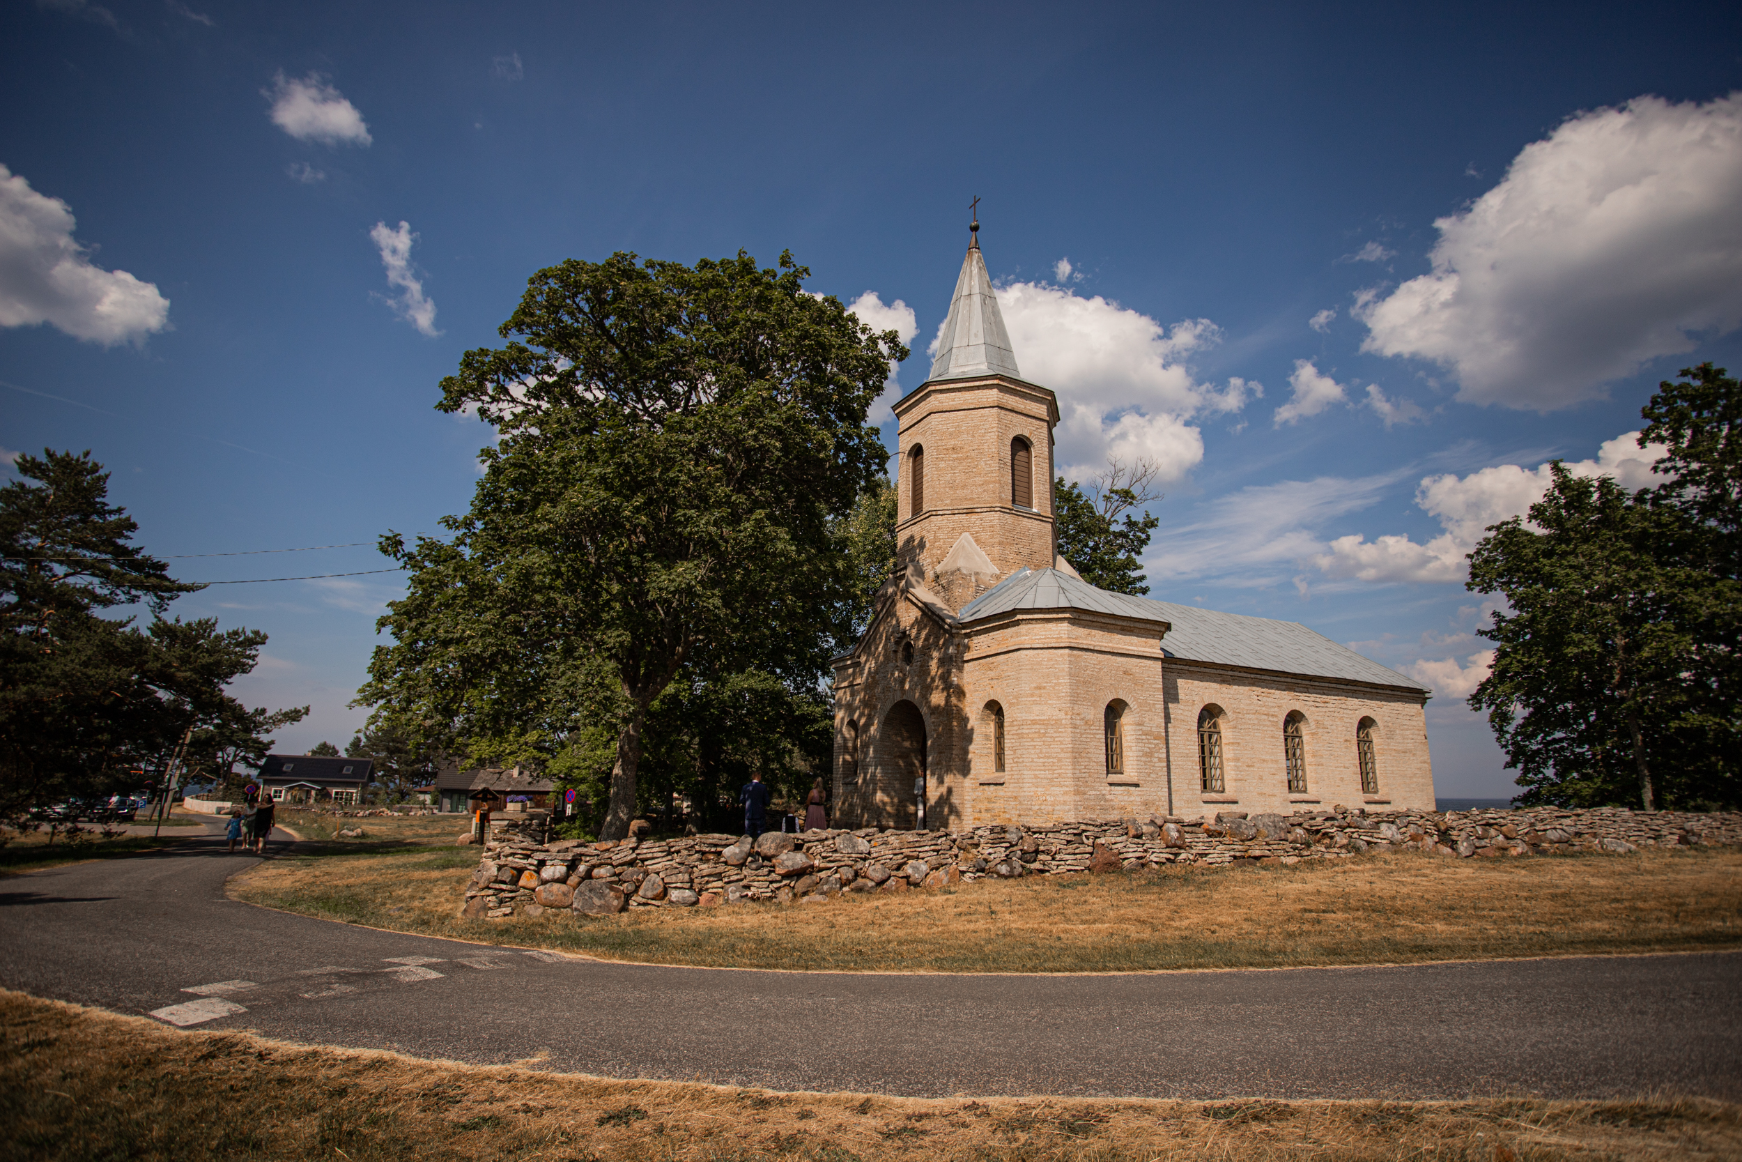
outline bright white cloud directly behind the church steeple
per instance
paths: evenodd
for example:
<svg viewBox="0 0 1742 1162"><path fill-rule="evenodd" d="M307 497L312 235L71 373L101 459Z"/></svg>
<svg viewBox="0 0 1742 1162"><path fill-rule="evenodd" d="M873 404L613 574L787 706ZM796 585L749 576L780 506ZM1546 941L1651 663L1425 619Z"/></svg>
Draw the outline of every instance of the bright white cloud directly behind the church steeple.
<svg viewBox="0 0 1742 1162"><path fill-rule="evenodd" d="M1045 282L998 287L998 308L1023 378L1059 397L1057 469L1066 477L1092 476L1118 455L1153 460L1160 483L1178 481L1204 460L1204 439L1188 420L1239 411L1265 392L1249 380L1216 387L1192 375L1192 355L1221 340L1209 319L1169 328Z"/></svg>

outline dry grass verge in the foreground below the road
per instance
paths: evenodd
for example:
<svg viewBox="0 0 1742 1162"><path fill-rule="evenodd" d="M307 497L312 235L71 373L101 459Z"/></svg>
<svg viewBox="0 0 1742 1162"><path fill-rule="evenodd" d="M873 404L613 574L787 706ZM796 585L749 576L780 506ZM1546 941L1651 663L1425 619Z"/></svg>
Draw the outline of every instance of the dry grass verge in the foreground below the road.
<svg viewBox="0 0 1742 1162"><path fill-rule="evenodd" d="M1709 1099L1096 1101L775 1094L183 1033L0 991L0 1157L604 1162L1735 1159Z"/></svg>

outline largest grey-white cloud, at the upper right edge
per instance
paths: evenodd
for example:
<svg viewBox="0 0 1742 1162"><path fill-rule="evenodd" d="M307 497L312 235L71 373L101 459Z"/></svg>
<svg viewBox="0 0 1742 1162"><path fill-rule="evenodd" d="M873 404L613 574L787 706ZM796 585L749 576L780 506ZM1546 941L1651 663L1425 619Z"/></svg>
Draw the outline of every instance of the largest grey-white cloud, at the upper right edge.
<svg viewBox="0 0 1742 1162"><path fill-rule="evenodd" d="M1597 399L1742 324L1742 92L1571 117L1434 225L1432 274L1357 300L1362 350L1449 368L1465 402Z"/></svg>

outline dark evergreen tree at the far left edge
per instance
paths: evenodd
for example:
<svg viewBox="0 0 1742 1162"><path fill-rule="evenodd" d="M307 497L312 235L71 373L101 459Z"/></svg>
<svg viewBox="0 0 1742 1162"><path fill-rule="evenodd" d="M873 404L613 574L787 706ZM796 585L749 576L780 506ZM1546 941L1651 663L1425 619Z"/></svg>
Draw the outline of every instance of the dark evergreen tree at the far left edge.
<svg viewBox="0 0 1742 1162"><path fill-rule="evenodd" d="M190 768L258 761L261 735L307 713L251 711L225 692L267 636L162 617L200 585L132 544L138 524L91 453L16 467L0 488L0 819L136 789L134 772L160 768L183 737ZM136 603L145 629L99 615Z"/></svg>

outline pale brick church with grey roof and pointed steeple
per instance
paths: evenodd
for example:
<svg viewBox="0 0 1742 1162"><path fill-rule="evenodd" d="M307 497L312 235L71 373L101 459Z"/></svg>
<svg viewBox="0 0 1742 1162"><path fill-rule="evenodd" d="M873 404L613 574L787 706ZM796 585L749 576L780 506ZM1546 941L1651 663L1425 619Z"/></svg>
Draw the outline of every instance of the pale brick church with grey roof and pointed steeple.
<svg viewBox="0 0 1742 1162"><path fill-rule="evenodd" d="M930 378L895 404L895 571L834 659L834 826L1432 810L1418 683L1057 556L1057 399L1017 371L970 237Z"/></svg>

